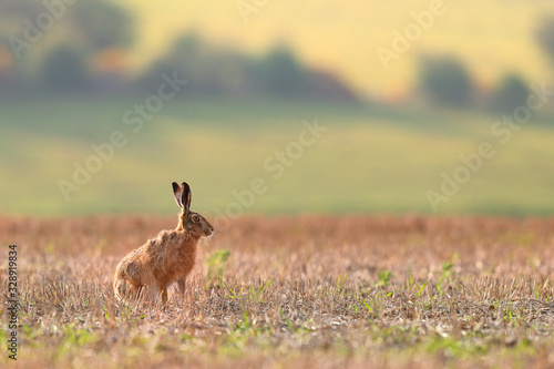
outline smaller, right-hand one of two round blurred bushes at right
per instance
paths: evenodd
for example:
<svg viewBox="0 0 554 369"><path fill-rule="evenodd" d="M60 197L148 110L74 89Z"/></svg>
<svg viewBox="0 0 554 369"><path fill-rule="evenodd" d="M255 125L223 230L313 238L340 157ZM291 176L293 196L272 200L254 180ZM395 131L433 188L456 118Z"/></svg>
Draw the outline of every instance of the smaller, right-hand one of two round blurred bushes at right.
<svg viewBox="0 0 554 369"><path fill-rule="evenodd" d="M525 81L515 74L504 76L492 96L492 107L501 112L510 112L527 103L530 90Z"/></svg>

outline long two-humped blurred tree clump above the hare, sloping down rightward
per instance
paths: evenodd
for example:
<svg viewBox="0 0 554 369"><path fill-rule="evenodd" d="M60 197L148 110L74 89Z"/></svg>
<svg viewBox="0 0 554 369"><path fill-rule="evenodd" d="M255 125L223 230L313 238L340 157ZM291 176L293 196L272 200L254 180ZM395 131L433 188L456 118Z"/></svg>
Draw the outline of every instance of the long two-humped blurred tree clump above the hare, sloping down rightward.
<svg viewBox="0 0 554 369"><path fill-rule="evenodd" d="M353 93L330 73L302 65L284 47L263 58L213 45L195 33L176 40L171 52L154 62L137 80L137 86L152 90L162 73L177 72L188 81L187 95L271 95L325 100L355 100Z"/></svg>

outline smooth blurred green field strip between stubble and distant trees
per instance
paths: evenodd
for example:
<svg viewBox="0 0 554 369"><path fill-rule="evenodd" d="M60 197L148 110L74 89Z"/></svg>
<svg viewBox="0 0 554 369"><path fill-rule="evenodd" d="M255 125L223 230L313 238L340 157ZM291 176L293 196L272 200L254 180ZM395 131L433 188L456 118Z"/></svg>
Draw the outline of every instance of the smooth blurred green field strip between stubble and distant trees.
<svg viewBox="0 0 554 369"><path fill-rule="evenodd" d="M176 212L170 183L188 181L194 208L206 214L227 206L233 214L432 213L428 191L440 193L442 173L452 177L460 155L488 141L496 155L439 212L554 213L554 127L545 117L503 144L491 133L493 115L183 99L135 133L137 115L124 115L142 101L1 101L1 212ZM302 121L327 131L311 140ZM112 154L105 143L116 131L125 144ZM105 160L91 145L104 147ZM95 173L76 183L75 165ZM266 191L250 206L244 191L256 178Z"/></svg>

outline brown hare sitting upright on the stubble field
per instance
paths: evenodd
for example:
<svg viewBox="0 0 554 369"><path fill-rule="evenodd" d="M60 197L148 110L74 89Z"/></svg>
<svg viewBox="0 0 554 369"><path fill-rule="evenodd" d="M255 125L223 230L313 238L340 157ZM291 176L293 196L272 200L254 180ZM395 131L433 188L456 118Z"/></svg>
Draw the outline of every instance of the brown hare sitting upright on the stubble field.
<svg viewBox="0 0 554 369"><path fill-rule="evenodd" d="M193 270L201 237L214 234L214 227L198 213L191 212L191 187L186 182L173 182L173 194L182 212L177 228L162 230L156 238L131 252L117 265L113 289L124 301L137 298L147 288L151 300L162 293L162 304L167 304L167 287L177 281L183 305L185 281Z"/></svg>

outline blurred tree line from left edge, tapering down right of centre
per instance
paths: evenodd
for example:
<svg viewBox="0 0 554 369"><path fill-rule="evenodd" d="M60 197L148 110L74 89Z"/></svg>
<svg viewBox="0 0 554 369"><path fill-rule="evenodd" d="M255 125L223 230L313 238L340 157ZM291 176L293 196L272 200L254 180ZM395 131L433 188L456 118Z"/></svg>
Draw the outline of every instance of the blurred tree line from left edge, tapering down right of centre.
<svg viewBox="0 0 554 369"><path fill-rule="evenodd" d="M188 81L188 94L356 100L337 76L304 65L286 47L254 58L194 33L131 75L126 61L136 40L134 20L105 0L72 6L0 0L0 93L154 91L162 73L177 72Z"/></svg>

